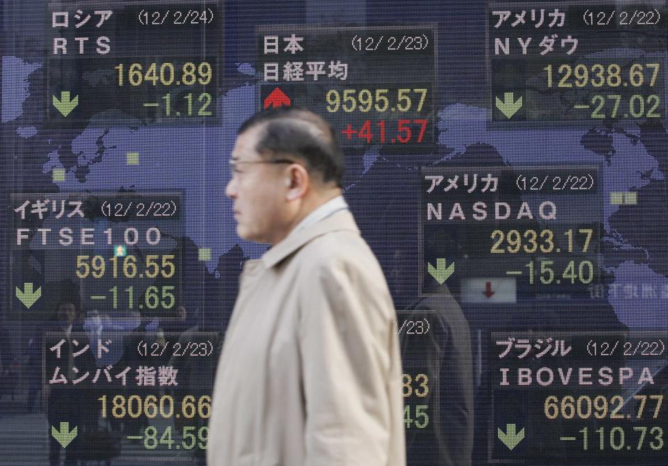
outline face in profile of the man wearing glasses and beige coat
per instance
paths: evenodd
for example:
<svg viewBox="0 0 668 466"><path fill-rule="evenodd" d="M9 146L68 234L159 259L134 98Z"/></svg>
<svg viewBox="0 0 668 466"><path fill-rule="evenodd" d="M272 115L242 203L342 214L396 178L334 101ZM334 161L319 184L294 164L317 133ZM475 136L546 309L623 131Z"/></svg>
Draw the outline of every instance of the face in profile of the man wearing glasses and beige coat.
<svg viewBox="0 0 668 466"><path fill-rule="evenodd" d="M227 195L234 200L237 234L258 243L276 243L289 215L285 193L286 165L266 161L255 150L261 127L250 127L237 138L232 151L234 168ZM252 163L249 163L252 162Z"/></svg>

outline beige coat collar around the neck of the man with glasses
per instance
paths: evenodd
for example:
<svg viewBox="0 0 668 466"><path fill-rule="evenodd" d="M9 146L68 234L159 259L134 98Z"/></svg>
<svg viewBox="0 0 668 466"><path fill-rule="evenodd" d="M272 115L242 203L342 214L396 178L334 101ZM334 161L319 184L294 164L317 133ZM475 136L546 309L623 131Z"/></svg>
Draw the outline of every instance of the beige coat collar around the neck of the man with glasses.
<svg viewBox="0 0 668 466"><path fill-rule="evenodd" d="M318 223L304 227L302 230L299 230L299 232L295 232L294 235L288 235L283 241L280 241L280 243L265 252L260 260L264 263L265 267L271 268L293 252L296 252L296 250L299 250L299 248L312 239L341 230L348 230L356 233L360 232L353 215L348 210L337 212L320 220Z"/></svg>

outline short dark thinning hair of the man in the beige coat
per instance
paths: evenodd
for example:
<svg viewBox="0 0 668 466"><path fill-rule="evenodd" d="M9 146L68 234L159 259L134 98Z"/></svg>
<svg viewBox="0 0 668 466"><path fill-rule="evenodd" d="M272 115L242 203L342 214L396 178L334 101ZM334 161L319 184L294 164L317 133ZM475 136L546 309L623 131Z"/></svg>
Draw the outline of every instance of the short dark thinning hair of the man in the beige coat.
<svg viewBox="0 0 668 466"><path fill-rule="evenodd" d="M256 113L241 124L238 134L262 125L255 150L268 157L295 156L323 182L342 187L344 154L331 124L300 107L279 107Z"/></svg>

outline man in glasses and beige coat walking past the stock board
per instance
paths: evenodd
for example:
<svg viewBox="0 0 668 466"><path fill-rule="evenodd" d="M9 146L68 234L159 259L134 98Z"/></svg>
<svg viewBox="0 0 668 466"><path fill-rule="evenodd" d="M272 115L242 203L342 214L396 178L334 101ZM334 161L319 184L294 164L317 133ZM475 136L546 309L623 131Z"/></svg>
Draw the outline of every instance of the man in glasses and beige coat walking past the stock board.
<svg viewBox="0 0 668 466"><path fill-rule="evenodd" d="M248 120L227 193L248 261L218 362L209 466L404 466L401 359L383 273L342 198L333 129Z"/></svg>

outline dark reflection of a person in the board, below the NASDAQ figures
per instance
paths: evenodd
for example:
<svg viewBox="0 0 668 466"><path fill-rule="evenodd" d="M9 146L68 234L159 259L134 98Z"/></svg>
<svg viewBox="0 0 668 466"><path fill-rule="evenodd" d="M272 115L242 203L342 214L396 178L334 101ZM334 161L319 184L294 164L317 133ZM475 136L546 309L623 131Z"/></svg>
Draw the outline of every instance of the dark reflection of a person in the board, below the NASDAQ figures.
<svg viewBox="0 0 668 466"><path fill-rule="evenodd" d="M397 250L392 270L397 307L408 311L401 313L401 318L429 321L429 326L417 326L412 335L403 331L399 337L406 406L415 407L408 418L426 424L407 429L408 466L471 466L474 385L470 328L445 283L429 282L423 291L432 296L417 298L421 275L413 257ZM428 407L429 421L417 409L420 406Z"/></svg>

